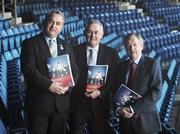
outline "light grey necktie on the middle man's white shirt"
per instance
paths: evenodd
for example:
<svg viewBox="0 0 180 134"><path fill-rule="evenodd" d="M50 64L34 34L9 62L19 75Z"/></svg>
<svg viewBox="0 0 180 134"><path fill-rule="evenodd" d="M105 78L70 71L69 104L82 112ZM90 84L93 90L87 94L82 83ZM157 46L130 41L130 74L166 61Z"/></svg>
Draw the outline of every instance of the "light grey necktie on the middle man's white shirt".
<svg viewBox="0 0 180 134"><path fill-rule="evenodd" d="M88 65L96 65L97 53L95 49L89 49Z"/></svg>

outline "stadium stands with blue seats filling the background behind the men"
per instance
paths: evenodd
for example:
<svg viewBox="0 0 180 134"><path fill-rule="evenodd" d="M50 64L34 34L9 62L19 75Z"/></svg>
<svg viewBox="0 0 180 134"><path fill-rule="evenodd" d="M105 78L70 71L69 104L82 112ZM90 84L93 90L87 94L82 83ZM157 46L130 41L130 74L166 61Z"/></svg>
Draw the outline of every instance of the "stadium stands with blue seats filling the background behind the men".
<svg viewBox="0 0 180 134"><path fill-rule="evenodd" d="M70 44L85 42L84 24L95 18L104 25L102 43L127 54L123 38L139 32L144 54L161 60L163 90L157 102L162 134L180 133L180 5L178 0L1 0L0 3L0 134L28 134L24 79L20 69L22 41L42 30L52 9L66 17L59 35ZM118 119L109 123L118 134ZM88 132L85 132L88 133Z"/></svg>

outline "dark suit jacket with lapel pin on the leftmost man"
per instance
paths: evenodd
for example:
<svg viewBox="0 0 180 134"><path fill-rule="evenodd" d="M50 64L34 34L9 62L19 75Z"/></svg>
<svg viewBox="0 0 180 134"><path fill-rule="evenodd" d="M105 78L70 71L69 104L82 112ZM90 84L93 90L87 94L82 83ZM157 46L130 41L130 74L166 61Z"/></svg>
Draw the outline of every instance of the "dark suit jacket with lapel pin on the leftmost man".
<svg viewBox="0 0 180 134"><path fill-rule="evenodd" d="M77 65L75 64L73 49L57 39L58 55L69 54L72 73L77 81ZM63 50L59 44L63 45ZM21 66L27 89L25 107L30 113L50 113L56 107L60 113L69 110L69 93L56 95L49 92L52 81L48 78L47 58L51 57L44 34L41 33L23 42L21 51Z"/></svg>

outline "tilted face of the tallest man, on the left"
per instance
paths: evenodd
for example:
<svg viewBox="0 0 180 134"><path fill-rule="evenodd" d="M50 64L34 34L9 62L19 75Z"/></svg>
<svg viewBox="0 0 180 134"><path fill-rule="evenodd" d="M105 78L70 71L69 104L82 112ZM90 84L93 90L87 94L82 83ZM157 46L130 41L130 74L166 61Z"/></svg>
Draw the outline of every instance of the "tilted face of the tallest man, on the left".
<svg viewBox="0 0 180 134"><path fill-rule="evenodd" d="M64 19L59 14L52 14L45 24L46 35L50 38L56 37L61 31L64 24Z"/></svg>

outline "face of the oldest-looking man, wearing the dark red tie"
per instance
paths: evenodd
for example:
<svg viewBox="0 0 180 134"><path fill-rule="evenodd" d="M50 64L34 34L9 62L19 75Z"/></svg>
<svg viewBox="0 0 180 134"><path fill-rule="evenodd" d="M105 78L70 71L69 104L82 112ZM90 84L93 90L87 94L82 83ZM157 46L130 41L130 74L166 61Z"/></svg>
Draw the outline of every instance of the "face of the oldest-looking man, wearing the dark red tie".
<svg viewBox="0 0 180 134"><path fill-rule="evenodd" d="M132 36L125 45L126 51L132 60L136 60L143 50L143 44L141 44L136 36Z"/></svg>

